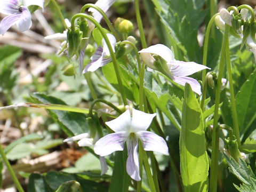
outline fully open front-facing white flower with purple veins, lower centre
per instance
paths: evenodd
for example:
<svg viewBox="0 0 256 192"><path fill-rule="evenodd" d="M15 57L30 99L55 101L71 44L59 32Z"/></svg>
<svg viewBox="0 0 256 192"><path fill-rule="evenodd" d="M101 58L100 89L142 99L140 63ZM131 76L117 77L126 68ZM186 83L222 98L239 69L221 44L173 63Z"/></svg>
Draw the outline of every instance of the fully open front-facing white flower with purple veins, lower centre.
<svg viewBox="0 0 256 192"><path fill-rule="evenodd" d="M106 122L115 133L110 133L99 139L94 146L94 152L100 156L107 156L114 151L124 150L126 142L128 158L126 171L130 177L140 181L138 139L146 151L156 151L168 155L165 140L157 134L146 131L156 114L147 114L142 111L128 109L116 119Z"/></svg>

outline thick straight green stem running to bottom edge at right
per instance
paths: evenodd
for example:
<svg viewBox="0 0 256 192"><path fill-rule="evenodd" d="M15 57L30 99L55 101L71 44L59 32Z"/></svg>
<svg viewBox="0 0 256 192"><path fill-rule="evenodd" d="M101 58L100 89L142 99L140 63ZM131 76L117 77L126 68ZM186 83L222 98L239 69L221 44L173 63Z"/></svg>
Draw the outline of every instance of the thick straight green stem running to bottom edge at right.
<svg viewBox="0 0 256 192"><path fill-rule="evenodd" d="M217 191L217 179L218 179L218 161L219 161L219 103L220 103L220 91L221 91L221 78L223 74L223 68L225 65L225 52L228 42L230 26L225 25L225 33L222 41L221 55L220 55L220 65L219 74L217 81L216 97L215 97L215 108L214 108L214 119L213 119L213 132L212 132L212 162L211 162L211 172L210 172L210 192Z"/></svg>

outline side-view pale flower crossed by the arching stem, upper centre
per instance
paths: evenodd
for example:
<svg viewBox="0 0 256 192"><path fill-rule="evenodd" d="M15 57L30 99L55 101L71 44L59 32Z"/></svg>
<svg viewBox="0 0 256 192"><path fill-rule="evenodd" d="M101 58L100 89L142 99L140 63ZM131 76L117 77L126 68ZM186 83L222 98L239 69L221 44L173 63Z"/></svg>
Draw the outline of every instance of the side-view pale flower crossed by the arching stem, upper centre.
<svg viewBox="0 0 256 192"><path fill-rule="evenodd" d="M111 44L111 47L115 52L116 38L112 34L107 34L107 36ZM110 57L109 49L105 39L102 39L102 47L99 46L90 59L92 61L88 65L86 65L86 67L83 70L83 73L87 73L88 71L93 72L97 70L99 67L103 67L107 65L107 63L111 62L112 59Z"/></svg>

